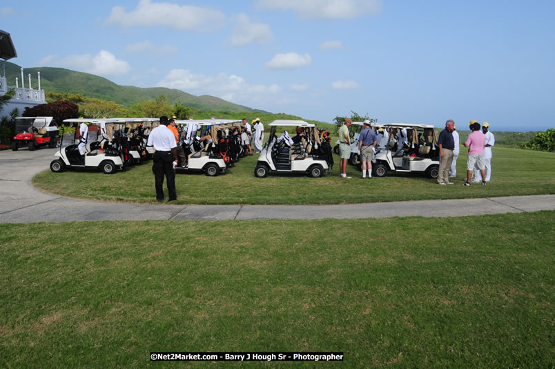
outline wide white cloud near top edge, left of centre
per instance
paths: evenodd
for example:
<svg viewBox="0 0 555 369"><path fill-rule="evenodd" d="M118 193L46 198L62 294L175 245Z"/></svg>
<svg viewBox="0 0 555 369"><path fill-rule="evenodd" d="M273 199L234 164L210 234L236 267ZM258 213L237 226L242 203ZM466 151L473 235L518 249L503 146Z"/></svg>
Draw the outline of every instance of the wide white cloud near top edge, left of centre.
<svg viewBox="0 0 555 369"><path fill-rule="evenodd" d="M126 12L123 6L114 6L108 24L131 26L163 26L177 30L210 31L222 28L224 13L206 6L153 3L139 0L137 8Z"/></svg>

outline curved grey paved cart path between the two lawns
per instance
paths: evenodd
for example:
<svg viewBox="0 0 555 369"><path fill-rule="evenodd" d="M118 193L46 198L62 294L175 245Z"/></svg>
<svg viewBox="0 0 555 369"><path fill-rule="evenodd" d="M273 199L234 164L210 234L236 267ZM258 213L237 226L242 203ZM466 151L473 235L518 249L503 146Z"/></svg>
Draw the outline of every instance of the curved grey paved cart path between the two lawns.
<svg viewBox="0 0 555 369"><path fill-rule="evenodd" d="M0 223L449 217L555 210L555 195L356 205L139 205L77 200L44 193L30 184L32 176L48 169L55 150L0 151Z"/></svg>

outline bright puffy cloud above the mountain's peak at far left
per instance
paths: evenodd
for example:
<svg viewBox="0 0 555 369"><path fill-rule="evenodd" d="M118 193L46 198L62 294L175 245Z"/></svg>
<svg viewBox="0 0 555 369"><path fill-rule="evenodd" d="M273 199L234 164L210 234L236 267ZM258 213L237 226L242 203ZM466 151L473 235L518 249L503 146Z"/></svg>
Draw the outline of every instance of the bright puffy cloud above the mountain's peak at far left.
<svg viewBox="0 0 555 369"><path fill-rule="evenodd" d="M106 50L100 50L97 55L84 54L70 55L68 57L48 55L39 61L39 65L75 69L105 77L124 75L131 69L127 61L116 59L113 54Z"/></svg>

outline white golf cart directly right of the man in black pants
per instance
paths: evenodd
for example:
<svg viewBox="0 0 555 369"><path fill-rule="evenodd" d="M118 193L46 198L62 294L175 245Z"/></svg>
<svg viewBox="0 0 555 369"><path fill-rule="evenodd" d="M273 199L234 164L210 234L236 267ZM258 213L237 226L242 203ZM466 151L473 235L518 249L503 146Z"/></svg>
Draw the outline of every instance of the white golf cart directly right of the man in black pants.
<svg viewBox="0 0 555 369"><path fill-rule="evenodd" d="M219 173L226 172L226 163L218 149L217 138L212 137L210 127L214 122L210 120L176 120L175 124L179 126L182 131L186 131L186 124L191 124L189 140L184 141L182 144L187 162L184 167L176 167L176 173L186 173L188 171L204 171L206 176L217 176ZM201 133L206 133L205 136L210 135L210 138L201 140Z"/></svg>

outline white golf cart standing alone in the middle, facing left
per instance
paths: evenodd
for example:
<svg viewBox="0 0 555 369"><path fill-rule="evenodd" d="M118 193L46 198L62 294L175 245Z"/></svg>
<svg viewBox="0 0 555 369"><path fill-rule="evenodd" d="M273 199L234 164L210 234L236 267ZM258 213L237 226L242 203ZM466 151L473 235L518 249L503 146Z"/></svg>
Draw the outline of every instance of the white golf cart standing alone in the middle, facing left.
<svg viewBox="0 0 555 369"><path fill-rule="evenodd" d="M324 155L320 132L314 124L303 120L274 120L269 124L270 135L255 167L255 176L264 178L270 171L280 173L308 173L318 178L329 171L329 163ZM287 127L300 128L304 137L299 142L293 142ZM276 131L283 133L277 137Z"/></svg>

